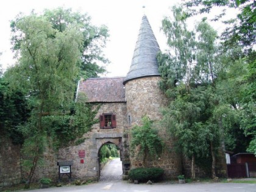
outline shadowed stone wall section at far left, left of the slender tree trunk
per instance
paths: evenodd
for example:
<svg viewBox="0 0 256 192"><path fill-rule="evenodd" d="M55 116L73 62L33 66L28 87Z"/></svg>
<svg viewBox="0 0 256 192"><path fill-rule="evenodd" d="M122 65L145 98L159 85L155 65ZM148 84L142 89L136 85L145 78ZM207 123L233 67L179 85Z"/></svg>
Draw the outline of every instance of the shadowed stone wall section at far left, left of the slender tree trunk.
<svg viewBox="0 0 256 192"><path fill-rule="evenodd" d="M0 137L0 187L21 182L20 146Z"/></svg>

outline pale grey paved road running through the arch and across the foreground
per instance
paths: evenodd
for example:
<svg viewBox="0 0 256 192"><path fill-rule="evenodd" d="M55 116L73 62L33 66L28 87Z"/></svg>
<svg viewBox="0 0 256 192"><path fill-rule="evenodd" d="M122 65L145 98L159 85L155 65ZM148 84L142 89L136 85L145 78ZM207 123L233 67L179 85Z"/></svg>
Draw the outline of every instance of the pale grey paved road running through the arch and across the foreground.
<svg viewBox="0 0 256 192"><path fill-rule="evenodd" d="M256 192L256 184L249 183L153 183L152 185L135 185L121 180L121 166L119 159L107 163L101 171L101 179L98 183L52 187L30 190L29 192Z"/></svg>

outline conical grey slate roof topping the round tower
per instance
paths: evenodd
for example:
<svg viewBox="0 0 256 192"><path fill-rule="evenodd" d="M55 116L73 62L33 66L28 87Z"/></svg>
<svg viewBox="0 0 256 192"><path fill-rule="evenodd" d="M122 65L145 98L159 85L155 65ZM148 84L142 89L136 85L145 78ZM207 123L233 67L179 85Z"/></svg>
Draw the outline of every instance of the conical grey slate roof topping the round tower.
<svg viewBox="0 0 256 192"><path fill-rule="evenodd" d="M157 64L157 52L160 51L148 18L143 16L138 40L133 52L132 64L124 79L124 85L132 79L160 76Z"/></svg>

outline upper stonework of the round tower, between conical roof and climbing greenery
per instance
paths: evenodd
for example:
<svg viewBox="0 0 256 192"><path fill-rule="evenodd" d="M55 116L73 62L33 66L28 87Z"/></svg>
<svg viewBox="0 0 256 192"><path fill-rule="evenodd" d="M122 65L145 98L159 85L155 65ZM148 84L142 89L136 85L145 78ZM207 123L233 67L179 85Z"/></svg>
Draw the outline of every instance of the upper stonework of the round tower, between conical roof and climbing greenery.
<svg viewBox="0 0 256 192"><path fill-rule="evenodd" d="M168 103L159 89L160 77L144 77L126 83L127 115L130 115L130 126L141 124L144 115L152 120L160 120L160 109Z"/></svg>

